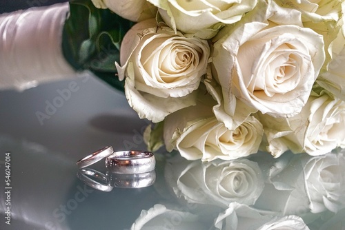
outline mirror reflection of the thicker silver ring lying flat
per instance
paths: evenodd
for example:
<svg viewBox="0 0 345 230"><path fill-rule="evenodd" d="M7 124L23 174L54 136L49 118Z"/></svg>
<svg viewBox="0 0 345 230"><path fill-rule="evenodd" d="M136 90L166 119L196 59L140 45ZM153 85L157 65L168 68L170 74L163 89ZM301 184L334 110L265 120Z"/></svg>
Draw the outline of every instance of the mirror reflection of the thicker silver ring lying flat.
<svg viewBox="0 0 345 230"><path fill-rule="evenodd" d="M109 185L117 188L142 188L153 185L156 180L155 170L143 174L112 174L107 173Z"/></svg>

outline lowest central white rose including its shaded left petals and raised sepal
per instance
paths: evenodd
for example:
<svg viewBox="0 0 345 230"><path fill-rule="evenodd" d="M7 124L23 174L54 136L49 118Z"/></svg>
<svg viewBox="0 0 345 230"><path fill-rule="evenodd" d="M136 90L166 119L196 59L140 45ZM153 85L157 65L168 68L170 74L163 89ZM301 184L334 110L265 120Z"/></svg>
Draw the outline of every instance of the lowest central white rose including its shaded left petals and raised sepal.
<svg viewBox="0 0 345 230"><path fill-rule="evenodd" d="M180 109L164 120L166 149L177 149L188 160L202 161L233 160L257 153L264 130L261 123L249 112L232 118L227 123L218 121L213 114L217 101L200 85L198 103L193 107Z"/></svg>

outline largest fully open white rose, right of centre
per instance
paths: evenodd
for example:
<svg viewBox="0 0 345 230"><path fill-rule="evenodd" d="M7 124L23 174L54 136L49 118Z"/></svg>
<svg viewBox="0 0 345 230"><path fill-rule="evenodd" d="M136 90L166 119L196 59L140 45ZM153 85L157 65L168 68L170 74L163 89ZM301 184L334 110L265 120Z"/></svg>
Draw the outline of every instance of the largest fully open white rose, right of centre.
<svg viewBox="0 0 345 230"><path fill-rule="evenodd" d="M215 37L213 76L230 115L236 107L233 95L263 114L299 113L324 63L322 36L302 27L297 10L268 2L259 1L242 21Z"/></svg>

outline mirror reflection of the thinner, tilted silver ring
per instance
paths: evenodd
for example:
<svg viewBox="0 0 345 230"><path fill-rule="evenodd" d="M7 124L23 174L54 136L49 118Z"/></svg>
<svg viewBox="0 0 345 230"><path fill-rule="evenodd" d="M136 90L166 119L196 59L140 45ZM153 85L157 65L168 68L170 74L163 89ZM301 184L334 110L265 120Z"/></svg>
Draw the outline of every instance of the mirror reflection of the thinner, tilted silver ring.
<svg viewBox="0 0 345 230"><path fill-rule="evenodd" d="M95 180L92 180L89 176L95 178ZM86 185L101 191L112 191L114 188L108 185L108 177L95 169L79 169L77 178Z"/></svg>

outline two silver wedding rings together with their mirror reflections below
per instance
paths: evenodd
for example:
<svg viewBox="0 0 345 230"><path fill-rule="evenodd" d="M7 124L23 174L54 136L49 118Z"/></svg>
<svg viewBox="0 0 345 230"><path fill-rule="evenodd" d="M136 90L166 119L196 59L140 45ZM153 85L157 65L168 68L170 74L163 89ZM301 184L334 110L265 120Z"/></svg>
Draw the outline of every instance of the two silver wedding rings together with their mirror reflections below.
<svg viewBox="0 0 345 230"><path fill-rule="evenodd" d="M106 174L86 168L103 158L106 158ZM150 151L113 151L108 146L78 160L77 165L77 177L86 185L101 191L111 191L114 187L148 187L156 179L156 160Z"/></svg>

